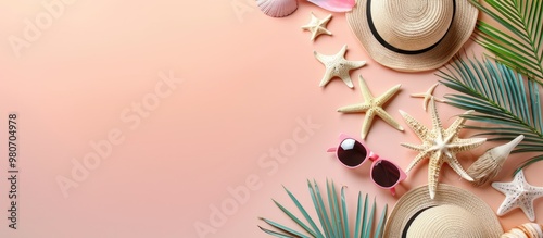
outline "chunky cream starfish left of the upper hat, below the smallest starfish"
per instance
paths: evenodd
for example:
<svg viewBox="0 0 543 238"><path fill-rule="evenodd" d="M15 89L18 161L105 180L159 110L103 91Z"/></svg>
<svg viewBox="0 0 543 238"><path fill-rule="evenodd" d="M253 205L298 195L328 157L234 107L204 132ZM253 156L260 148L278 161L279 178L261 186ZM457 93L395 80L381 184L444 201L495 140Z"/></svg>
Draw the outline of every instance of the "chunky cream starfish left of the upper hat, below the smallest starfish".
<svg viewBox="0 0 543 238"><path fill-rule="evenodd" d="M341 48L340 52L334 55L325 55L313 51L315 58L320 61L326 67L325 75L320 80L320 87L326 86L333 77L340 77L348 87L353 88L353 82L349 72L366 64L366 61L348 61L345 60L346 45Z"/></svg>

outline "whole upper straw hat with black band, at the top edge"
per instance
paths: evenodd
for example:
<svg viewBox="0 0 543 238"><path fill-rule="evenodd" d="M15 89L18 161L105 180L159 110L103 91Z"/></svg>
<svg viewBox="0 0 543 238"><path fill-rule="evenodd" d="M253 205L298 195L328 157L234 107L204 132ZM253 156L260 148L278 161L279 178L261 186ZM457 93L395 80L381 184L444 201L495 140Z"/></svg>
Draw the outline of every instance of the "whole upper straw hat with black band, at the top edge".
<svg viewBox="0 0 543 238"><path fill-rule="evenodd" d="M396 71L442 66L473 32L469 0L357 0L349 26L368 54Z"/></svg>

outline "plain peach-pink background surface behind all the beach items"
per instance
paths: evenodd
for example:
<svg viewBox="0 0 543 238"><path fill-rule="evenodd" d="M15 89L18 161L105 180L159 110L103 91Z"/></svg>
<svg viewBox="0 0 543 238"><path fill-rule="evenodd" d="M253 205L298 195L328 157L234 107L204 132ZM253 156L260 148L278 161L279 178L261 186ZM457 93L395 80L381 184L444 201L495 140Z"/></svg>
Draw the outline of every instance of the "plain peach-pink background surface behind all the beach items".
<svg viewBox="0 0 543 238"><path fill-rule="evenodd" d="M333 54L346 43L346 59L367 61L351 76L362 74L375 96L402 84L384 109L405 131L376 120L366 143L403 168L416 153L400 142L419 140L399 110L430 125L422 100L409 95L439 79L435 72L399 73L369 59L343 13L333 13L328 24L333 36L312 42L300 27L310 12L318 17L328 12L307 2L291 16L273 18L253 0L73 0L61 3L63 11L50 25L42 22L40 35L15 50L17 58L9 39L24 39L25 20L35 23L50 14L42 2L59 1L0 3L0 124L7 125L9 113L18 114L21 171L18 229L12 230L4 218L9 184L1 152L7 151L8 128L0 126L0 237L199 237L197 224L212 228L201 237L268 237L258 229L266 225L257 217L288 221L272 198L295 209L281 185L311 205L306 179L324 187L329 178L349 186L351 208L362 190L377 199L379 212L384 203L390 212L401 195L427 183L425 161L394 198L374 186L369 165L348 171L325 152L340 133L359 138L364 114L336 110L363 99L357 80L353 90L340 79L318 87L325 68L314 50ZM480 55L479 46L468 42L466 48ZM163 87L160 72L182 82ZM156 97L156 87L169 93ZM434 95L447 92L439 86ZM135 103L152 107L140 115L132 111ZM445 126L462 113L442 103L438 110ZM319 128L304 130L300 122L307 121ZM121 134L122 141L65 197L56 179L72 178L74 161L83 163L94 152L91 145L103 142L111 131ZM473 133L464 130L463 136ZM303 139L292 143L294 134ZM492 146L484 143L459 159L467 167ZM285 158L281 162L272 158L274 150ZM510 156L497 180L509 181L525 158ZM543 175L536 174L542 166L525 172L534 186L543 186ZM249 189L248 178L249 196L228 206L236 201L229 190ZM475 188L460 180L446 165L440 180L475 192L494 211L505 198L489 186ZM211 224L213 209L225 204L228 214ZM540 222L540 201L535 212ZM500 221L504 229L528 222L520 210Z"/></svg>

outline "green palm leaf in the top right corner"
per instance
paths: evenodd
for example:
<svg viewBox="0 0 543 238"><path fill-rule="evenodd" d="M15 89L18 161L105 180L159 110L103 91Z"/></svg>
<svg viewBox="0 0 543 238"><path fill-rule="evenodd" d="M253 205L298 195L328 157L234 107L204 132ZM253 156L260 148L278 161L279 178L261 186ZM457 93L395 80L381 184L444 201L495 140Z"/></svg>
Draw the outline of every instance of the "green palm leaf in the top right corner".
<svg viewBox="0 0 543 238"><path fill-rule="evenodd" d="M471 3L502 28L479 21L476 41L495 59L543 85L543 1L477 0ZM503 29L505 28L505 30Z"/></svg>

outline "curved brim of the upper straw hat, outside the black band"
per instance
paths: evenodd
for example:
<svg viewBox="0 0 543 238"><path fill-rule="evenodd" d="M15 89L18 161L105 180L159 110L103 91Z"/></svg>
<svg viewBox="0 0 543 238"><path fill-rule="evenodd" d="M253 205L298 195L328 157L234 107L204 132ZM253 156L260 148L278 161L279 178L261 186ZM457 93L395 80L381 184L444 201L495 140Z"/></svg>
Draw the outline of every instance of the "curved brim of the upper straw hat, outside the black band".
<svg viewBox="0 0 543 238"><path fill-rule="evenodd" d="M445 36L432 49L416 54L389 50L377 40L366 15L367 0L357 0L353 10L346 13L346 21L366 52L378 63L402 72L429 71L447 63L475 29L479 10L468 0L456 0L455 4L455 15Z"/></svg>

